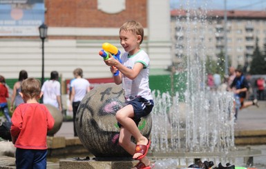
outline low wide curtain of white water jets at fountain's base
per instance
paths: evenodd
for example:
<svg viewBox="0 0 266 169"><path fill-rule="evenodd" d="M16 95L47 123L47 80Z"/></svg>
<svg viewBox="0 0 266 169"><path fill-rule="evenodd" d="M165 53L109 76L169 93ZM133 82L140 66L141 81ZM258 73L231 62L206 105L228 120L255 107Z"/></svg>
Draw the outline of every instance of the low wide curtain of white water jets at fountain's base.
<svg viewBox="0 0 266 169"><path fill-rule="evenodd" d="M228 152L234 148L233 97L227 92L210 91L190 97L191 103L178 101L178 93L171 97L158 92L154 97L151 150Z"/></svg>

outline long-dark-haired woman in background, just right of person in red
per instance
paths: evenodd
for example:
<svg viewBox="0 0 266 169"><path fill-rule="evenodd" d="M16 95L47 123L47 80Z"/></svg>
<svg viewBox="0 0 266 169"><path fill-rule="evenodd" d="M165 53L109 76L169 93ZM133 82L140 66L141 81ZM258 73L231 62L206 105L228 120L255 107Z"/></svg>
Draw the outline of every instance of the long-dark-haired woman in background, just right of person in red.
<svg viewBox="0 0 266 169"><path fill-rule="evenodd" d="M19 81L17 81L13 87L13 94L11 98L11 103L10 103L10 112L14 110L14 108L17 108L21 103L24 103L21 95L19 95L19 92L21 92L21 83L23 80L28 78L28 72L26 70L21 70L19 72ZM15 107L14 107L15 103Z"/></svg>

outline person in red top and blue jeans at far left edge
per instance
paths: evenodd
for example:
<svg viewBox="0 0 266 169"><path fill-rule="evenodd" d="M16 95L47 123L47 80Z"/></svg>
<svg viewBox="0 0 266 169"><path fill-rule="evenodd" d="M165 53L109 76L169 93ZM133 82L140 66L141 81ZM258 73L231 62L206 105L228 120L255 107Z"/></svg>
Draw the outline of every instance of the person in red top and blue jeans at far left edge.
<svg viewBox="0 0 266 169"><path fill-rule="evenodd" d="M11 121L9 111L8 111L8 88L6 87L6 79L0 75L0 110L3 111L6 120Z"/></svg>

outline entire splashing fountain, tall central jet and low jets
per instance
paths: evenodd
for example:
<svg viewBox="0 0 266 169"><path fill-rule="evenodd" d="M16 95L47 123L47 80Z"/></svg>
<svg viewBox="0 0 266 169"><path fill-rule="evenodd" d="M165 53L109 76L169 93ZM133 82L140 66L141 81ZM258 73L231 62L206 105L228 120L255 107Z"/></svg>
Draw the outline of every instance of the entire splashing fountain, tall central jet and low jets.
<svg viewBox="0 0 266 169"><path fill-rule="evenodd" d="M229 92L206 89L205 30L207 30L207 3L201 10L191 10L185 1L186 17L176 19L177 33L187 34L186 85L184 101L180 93L153 92L153 152L229 152L234 148L234 97ZM193 1L195 4L195 1ZM193 6L192 4L192 6ZM184 25L181 24L184 21ZM197 37L197 38L195 38ZM191 43L193 39L193 46ZM177 38L175 46L180 46ZM178 57L182 56L176 50Z"/></svg>

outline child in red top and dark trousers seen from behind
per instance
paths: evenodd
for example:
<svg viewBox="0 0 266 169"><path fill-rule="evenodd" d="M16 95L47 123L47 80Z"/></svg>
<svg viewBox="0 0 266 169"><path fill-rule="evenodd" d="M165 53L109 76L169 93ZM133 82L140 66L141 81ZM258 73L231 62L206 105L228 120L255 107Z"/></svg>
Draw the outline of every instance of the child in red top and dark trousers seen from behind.
<svg viewBox="0 0 266 169"><path fill-rule="evenodd" d="M21 83L19 93L25 103L21 103L12 115L11 136L15 143L17 168L46 168L47 131L54 126L55 120L43 104L41 83L28 78Z"/></svg>

